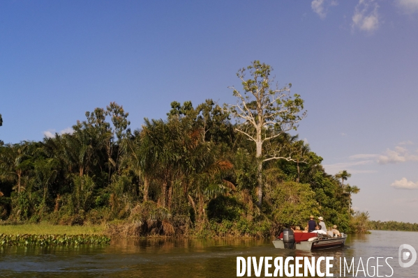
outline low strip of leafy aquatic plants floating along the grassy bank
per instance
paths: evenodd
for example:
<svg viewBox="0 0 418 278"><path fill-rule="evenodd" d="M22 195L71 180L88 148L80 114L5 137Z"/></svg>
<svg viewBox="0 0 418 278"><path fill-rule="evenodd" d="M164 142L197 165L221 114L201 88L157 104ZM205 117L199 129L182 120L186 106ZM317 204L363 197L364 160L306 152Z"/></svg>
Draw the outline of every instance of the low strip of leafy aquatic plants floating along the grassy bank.
<svg viewBox="0 0 418 278"><path fill-rule="evenodd" d="M108 245L105 235L0 235L0 246L78 246Z"/></svg>

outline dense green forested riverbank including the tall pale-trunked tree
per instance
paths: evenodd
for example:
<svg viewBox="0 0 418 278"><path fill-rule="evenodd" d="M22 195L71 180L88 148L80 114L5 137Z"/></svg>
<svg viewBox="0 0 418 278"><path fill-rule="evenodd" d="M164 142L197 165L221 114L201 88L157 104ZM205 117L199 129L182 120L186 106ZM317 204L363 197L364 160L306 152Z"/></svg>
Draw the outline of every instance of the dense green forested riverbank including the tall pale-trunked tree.
<svg viewBox="0 0 418 278"><path fill-rule="evenodd" d="M111 102L86 112L72 133L2 143L2 223L267 237L315 215L345 233L365 232L368 215L351 208L359 189L344 183L350 173L326 173L322 157L292 135L306 116L292 84L275 86L259 61L237 76L234 105L174 101L167 118L133 130Z"/></svg>

